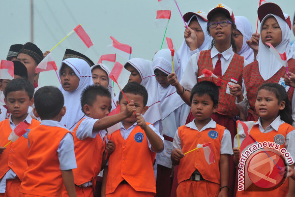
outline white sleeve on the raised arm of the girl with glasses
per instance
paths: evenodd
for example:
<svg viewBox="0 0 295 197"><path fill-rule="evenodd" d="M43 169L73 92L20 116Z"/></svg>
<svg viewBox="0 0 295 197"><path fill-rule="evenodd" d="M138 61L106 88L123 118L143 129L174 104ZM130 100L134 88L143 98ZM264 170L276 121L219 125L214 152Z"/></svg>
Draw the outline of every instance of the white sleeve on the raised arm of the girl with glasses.
<svg viewBox="0 0 295 197"><path fill-rule="evenodd" d="M191 91L197 83L199 56L200 52L195 53L189 58L183 76L181 77L180 84L189 91Z"/></svg>

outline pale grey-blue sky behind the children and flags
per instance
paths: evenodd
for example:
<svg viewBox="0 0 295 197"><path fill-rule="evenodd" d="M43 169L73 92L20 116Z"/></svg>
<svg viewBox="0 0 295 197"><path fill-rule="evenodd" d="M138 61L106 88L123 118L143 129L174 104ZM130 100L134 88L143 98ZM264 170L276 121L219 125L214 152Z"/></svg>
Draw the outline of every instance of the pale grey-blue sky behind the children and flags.
<svg viewBox="0 0 295 197"><path fill-rule="evenodd" d="M166 36L173 40L177 50L183 42L184 23L174 1L170 1L172 12ZM157 0L34 0L33 2L34 43L43 52L50 50L78 24L82 25L94 43L94 47L84 52L94 63L97 63L101 55L112 53L106 49L111 43L110 36L121 43L131 45L132 57L152 60L155 52L160 49L165 29L155 26L156 11L163 9ZM256 30L259 0L178 0L177 2L183 14L199 10L207 13L222 2L233 9L235 16L247 17L253 25L253 31ZM289 14L291 20L293 19L294 0L271 2L278 4L283 12ZM0 54L1 59L6 59L10 45L30 41L30 0L2 0L0 22ZM294 40L294 35L291 40ZM164 47L167 48L166 43ZM65 42L52 51L58 68L66 48L73 47L71 43ZM127 60L117 56L117 61L124 65ZM113 64L107 66L112 68ZM58 85L54 71L42 73L39 84Z"/></svg>

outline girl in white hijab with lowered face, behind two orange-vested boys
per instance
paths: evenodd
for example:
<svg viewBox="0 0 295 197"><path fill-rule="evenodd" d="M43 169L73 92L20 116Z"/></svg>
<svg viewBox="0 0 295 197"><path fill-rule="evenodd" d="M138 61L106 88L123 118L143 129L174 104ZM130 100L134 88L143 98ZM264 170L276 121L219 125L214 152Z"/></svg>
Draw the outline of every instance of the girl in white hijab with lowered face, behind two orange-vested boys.
<svg viewBox="0 0 295 197"><path fill-rule="evenodd" d="M171 191L171 168L170 159L173 149L173 137L178 127L184 125L189 114L189 106L176 93L174 86L167 81L168 74L172 73L171 52L169 49L158 51L153 58L153 70L158 82L158 91L162 109L164 151L157 154L157 196L170 197ZM179 65L179 58L176 54L173 59L173 72L181 77L182 70Z"/></svg>

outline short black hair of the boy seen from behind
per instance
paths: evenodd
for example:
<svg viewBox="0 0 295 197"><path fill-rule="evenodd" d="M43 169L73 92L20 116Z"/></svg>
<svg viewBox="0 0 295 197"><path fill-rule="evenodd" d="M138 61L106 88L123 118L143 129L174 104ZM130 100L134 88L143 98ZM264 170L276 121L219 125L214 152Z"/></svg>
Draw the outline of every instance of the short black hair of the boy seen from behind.
<svg viewBox="0 0 295 197"><path fill-rule="evenodd" d="M34 95L35 108L43 119L55 118L65 104L63 93L54 86L44 86L38 89Z"/></svg>

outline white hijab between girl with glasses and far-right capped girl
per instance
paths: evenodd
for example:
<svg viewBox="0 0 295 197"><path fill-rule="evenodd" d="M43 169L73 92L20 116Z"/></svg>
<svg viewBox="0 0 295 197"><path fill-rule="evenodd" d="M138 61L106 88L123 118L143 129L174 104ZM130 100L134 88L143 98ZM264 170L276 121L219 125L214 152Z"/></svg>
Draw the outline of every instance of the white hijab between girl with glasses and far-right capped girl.
<svg viewBox="0 0 295 197"><path fill-rule="evenodd" d="M235 16L235 24L237 25L237 30L239 30L243 35L243 46L240 52L237 54L244 56L245 59L251 63L254 61L254 52L252 48L246 43L250 40L253 34L253 28L250 21L243 16Z"/></svg>

